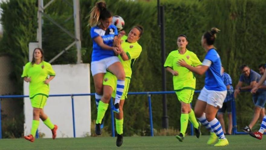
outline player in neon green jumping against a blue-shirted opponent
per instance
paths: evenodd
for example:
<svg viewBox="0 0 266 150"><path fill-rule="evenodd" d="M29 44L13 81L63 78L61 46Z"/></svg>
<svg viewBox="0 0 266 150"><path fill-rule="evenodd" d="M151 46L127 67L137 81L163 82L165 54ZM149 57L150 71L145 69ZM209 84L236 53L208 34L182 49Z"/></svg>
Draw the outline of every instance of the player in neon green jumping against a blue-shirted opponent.
<svg viewBox="0 0 266 150"><path fill-rule="evenodd" d="M128 87L131 79L132 74L132 65L134 64L135 60L139 57L142 51L141 45L138 44L138 40L140 39L141 35L143 34L143 28L139 25L134 26L131 31L128 33L128 36L123 36L122 43L120 45L120 40L118 37L118 48L121 51L121 54L118 56L120 59L123 68L125 70L125 88L121 96L121 101L119 103L119 113L115 114L115 125L116 125L116 132L117 132L117 140L116 140L116 146L121 146L123 143L123 121L124 121L124 115L123 115L123 105L125 103L125 98L127 98L128 94ZM97 121L102 122L102 118L105 115L105 111L108 108L108 103L110 101L111 96L115 97L117 88L116 87L117 78L114 74L111 72L106 72L104 75L103 80L103 96L102 101L99 103L102 103L104 107L99 105L98 108L98 114L97 114ZM98 125L98 130L96 130L96 134L100 135L101 130Z"/></svg>

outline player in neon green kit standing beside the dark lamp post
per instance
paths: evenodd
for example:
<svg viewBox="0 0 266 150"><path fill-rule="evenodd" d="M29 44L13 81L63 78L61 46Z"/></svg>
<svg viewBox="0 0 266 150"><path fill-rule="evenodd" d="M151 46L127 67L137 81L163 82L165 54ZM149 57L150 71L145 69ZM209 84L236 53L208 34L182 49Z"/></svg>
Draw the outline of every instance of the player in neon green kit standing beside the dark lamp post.
<svg viewBox="0 0 266 150"><path fill-rule="evenodd" d="M181 129L180 134L176 136L180 142L183 142L185 137L188 121L193 124L196 130L196 137L199 138L201 135L200 123L197 122L195 114L190 107L196 87L196 78L194 77L193 72L177 65L177 61L180 59L184 59L189 65L194 67L202 64L196 54L187 50L187 44L187 36L179 35L177 38L178 49L170 52L164 63L166 70L173 75L174 90L181 103Z"/></svg>

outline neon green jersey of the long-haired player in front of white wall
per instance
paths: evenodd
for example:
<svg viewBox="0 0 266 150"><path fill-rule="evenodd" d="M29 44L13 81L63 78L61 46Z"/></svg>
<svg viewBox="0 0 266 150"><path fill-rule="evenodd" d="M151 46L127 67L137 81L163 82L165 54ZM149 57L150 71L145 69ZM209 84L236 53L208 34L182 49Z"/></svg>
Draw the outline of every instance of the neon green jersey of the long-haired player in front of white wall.
<svg viewBox="0 0 266 150"><path fill-rule="evenodd" d="M48 75L55 75L54 69L48 62L42 61L38 65L31 65L31 62L28 62L25 65L21 77L31 78L29 85L30 98L33 98L35 95L45 95L48 97L50 88L49 85L44 83Z"/></svg>

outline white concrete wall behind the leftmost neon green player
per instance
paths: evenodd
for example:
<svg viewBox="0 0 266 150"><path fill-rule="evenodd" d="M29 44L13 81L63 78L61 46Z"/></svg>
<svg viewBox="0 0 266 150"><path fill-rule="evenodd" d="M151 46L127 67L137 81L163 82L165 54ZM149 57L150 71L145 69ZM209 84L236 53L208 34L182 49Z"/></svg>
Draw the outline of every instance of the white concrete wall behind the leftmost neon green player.
<svg viewBox="0 0 266 150"><path fill-rule="evenodd" d="M50 82L51 94L80 94L90 93L89 64L52 65L56 76ZM24 95L29 95L29 83L24 82ZM91 135L91 106L90 96L74 96L76 137ZM31 102L24 98L24 135L31 132L32 123ZM74 137L71 97L49 97L44 112L51 121L58 125L57 137ZM44 133L44 138L51 138L51 130L40 119L38 131Z"/></svg>

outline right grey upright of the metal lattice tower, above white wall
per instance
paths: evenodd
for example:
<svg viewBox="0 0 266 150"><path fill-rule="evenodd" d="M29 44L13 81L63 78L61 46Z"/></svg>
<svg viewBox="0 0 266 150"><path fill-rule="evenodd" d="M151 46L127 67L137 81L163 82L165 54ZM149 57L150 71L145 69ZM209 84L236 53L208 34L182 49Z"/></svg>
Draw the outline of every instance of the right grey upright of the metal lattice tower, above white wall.
<svg viewBox="0 0 266 150"><path fill-rule="evenodd" d="M80 20L79 20L79 0L73 0L74 8L74 22L75 22L75 36L77 48L77 64L81 63L81 41L80 41Z"/></svg>

